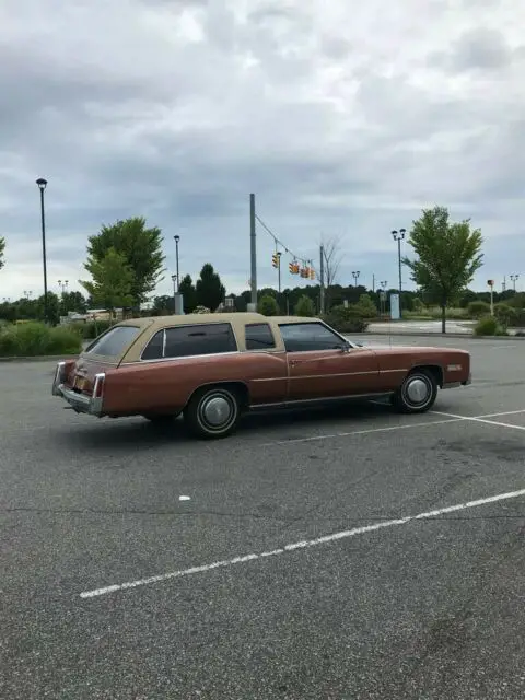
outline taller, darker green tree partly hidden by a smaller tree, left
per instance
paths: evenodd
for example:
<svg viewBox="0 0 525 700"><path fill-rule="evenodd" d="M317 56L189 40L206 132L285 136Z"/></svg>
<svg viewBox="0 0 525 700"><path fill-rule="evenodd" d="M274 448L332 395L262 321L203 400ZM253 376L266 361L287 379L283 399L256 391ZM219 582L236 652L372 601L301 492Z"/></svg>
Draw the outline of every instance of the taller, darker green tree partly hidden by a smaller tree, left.
<svg viewBox="0 0 525 700"><path fill-rule="evenodd" d="M102 262L110 248L120 255L131 272L130 291L124 295L131 296L127 305L143 304L162 280L165 257L162 254L162 232L156 226L148 229L143 217L131 217L106 226L90 236L88 261L85 269L91 272L92 266ZM114 258L112 258L114 260ZM129 279L129 275L126 275Z"/></svg>

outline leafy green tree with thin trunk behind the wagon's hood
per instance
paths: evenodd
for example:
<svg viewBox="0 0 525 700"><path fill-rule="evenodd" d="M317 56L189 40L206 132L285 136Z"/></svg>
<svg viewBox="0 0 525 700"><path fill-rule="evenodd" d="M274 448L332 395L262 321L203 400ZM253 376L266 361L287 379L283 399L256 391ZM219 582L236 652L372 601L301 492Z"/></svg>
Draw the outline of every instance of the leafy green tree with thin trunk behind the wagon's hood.
<svg viewBox="0 0 525 700"><path fill-rule="evenodd" d="M417 259L404 258L411 279L441 307L446 332L446 307L464 293L482 265L482 236L470 220L451 222L445 207L423 209L413 222L408 243Z"/></svg>

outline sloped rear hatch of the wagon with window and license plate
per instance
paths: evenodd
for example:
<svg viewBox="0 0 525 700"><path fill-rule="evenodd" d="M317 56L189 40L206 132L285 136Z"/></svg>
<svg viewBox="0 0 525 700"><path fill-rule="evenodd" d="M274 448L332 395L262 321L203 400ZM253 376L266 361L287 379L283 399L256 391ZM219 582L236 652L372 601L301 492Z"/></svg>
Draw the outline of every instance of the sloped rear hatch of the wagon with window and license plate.
<svg viewBox="0 0 525 700"><path fill-rule="evenodd" d="M91 394L95 375L115 369L148 325L129 323L113 326L98 336L68 368L66 385L79 394Z"/></svg>

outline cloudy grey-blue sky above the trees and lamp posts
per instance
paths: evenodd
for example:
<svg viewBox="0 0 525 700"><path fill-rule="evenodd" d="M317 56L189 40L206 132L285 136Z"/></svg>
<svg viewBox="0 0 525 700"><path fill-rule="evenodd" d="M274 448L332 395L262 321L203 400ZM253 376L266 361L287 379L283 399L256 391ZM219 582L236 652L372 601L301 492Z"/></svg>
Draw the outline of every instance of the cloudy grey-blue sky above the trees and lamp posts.
<svg viewBox="0 0 525 700"><path fill-rule="evenodd" d="M249 194L284 246L397 285L397 244L448 207L485 237L474 288L525 289L525 4L511 0L2 0L0 301L82 289L88 236L143 215L171 293L249 279ZM277 285L257 228L258 284ZM404 242L402 253L412 250ZM282 285L305 283L288 273ZM404 285L411 287L407 271Z"/></svg>

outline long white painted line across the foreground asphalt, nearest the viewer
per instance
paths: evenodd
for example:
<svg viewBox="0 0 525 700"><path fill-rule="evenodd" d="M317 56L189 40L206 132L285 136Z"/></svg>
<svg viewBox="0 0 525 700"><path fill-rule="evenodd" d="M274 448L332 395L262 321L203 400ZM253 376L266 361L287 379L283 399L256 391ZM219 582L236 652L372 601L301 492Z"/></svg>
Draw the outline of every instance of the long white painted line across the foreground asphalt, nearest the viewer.
<svg viewBox="0 0 525 700"><path fill-rule="evenodd" d="M366 535L378 529L385 529L386 527L394 527L395 525L406 525L412 521L430 520L447 513L455 513L457 511L464 511L469 508L477 508L478 505L487 505L488 503L497 503L498 501L506 501L510 499L516 499L521 495L525 495L525 489L520 491L509 491L508 493L500 493L498 495L490 495L485 499L478 499L477 501L467 501L466 503L458 503L457 505L448 505L435 511L427 511L425 513L419 513L418 515L407 515L392 521L382 521L381 523L374 523L373 525L365 525L363 527L354 527L352 529L341 530L339 533L332 533L331 535L325 535L324 537L317 537L316 539L306 539L299 542L292 542L278 549L271 549L269 551L262 551L259 553L244 555L242 557L234 557L233 559L224 559L222 561L214 561L209 564L202 564L200 567L191 567L190 569L182 569L179 571L172 571L170 573L162 573L156 576L148 576L147 579L138 579L137 581L129 581L127 583L117 583L102 588L95 588L93 591L84 591L80 594L81 598L96 598L108 593L116 593L117 591L127 591L128 588L138 588L139 586L145 586L150 583L160 583L162 581L168 581L171 579L182 579L183 576L190 576L197 573L207 573L214 569L224 569L226 567L233 567L234 564L243 564L248 561L256 561L257 559L266 559L268 557L277 557L284 555L289 551L296 549L305 549L307 547L316 547L318 545L328 545L339 539L348 539L349 537L355 537L357 535Z"/></svg>

